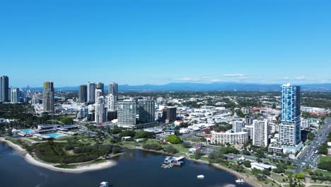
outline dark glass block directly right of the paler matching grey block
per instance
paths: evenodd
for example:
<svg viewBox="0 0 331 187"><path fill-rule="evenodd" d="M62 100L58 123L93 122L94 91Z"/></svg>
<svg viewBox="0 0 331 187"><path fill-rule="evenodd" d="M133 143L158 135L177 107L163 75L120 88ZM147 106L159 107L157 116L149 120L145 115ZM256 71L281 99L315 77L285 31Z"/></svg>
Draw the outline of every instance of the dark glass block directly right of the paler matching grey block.
<svg viewBox="0 0 331 187"><path fill-rule="evenodd" d="M155 101L139 100L139 122L150 123L155 121Z"/></svg>

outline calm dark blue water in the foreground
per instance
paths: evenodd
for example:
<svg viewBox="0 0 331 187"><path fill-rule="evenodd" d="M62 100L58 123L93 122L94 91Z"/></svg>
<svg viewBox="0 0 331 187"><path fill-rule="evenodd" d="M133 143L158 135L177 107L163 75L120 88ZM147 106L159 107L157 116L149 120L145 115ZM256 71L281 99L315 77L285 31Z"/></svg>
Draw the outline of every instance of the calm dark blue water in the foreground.
<svg viewBox="0 0 331 187"><path fill-rule="evenodd" d="M115 158L117 165L83 174L67 174L33 166L16 155L15 150L0 142L0 186L98 186L108 181L111 186L248 186L238 185L236 177L208 166L187 160L181 168L161 169L164 155L142 150L127 150ZM203 174L204 179L197 179Z"/></svg>

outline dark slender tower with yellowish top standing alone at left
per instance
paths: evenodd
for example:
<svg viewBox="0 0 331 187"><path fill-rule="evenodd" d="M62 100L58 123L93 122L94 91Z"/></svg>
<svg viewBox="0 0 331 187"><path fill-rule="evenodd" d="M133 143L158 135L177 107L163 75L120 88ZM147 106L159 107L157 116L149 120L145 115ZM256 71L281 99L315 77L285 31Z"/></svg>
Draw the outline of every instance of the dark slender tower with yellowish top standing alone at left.
<svg viewBox="0 0 331 187"><path fill-rule="evenodd" d="M47 113L54 112L54 85L52 81L44 82L44 93L42 95L43 111Z"/></svg>

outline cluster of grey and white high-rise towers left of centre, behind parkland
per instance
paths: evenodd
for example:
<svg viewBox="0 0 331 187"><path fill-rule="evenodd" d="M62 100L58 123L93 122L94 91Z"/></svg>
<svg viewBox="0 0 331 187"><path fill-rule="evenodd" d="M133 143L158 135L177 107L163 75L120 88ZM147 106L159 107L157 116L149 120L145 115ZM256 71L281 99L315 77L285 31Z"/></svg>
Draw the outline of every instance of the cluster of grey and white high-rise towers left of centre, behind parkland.
<svg viewBox="0 0 331 187"><path fill-rule="evenodd" d="M118 84L115 82L109 84L108 94L105 94L104 84L100 82L88 82L79 86L79 102L88 105L86 107L88 109L81 109L79 118L88 117L90 114L93 116L92 118L89 116L89 119L94 120L95 123L104 123L117 118L118 126L137 128L138 124L155 121L154 101L118 101ZM89 114L86 113L87 110Z"/></svg>

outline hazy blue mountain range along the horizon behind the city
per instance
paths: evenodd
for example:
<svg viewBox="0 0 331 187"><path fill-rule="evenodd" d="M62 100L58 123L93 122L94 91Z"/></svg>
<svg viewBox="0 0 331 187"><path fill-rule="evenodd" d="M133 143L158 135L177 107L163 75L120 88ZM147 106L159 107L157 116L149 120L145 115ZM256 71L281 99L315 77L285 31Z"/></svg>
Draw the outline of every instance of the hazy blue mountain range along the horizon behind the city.
<svg viewBox="0 0 331 187"><path fill-rule="evenodd" d="M130 86L119 85L119 91L280 91L281 84L254 84L254 83L233 83L219 82L211 84L203 83L169 83L164 85L144 84ZM301 91L323 91L331 92L331 84L301 84ZM42 88L32 88L42 90ZM55 90L78 91L79 86L57 87ZM105 86L105 91L108 86Z"/></svg>

